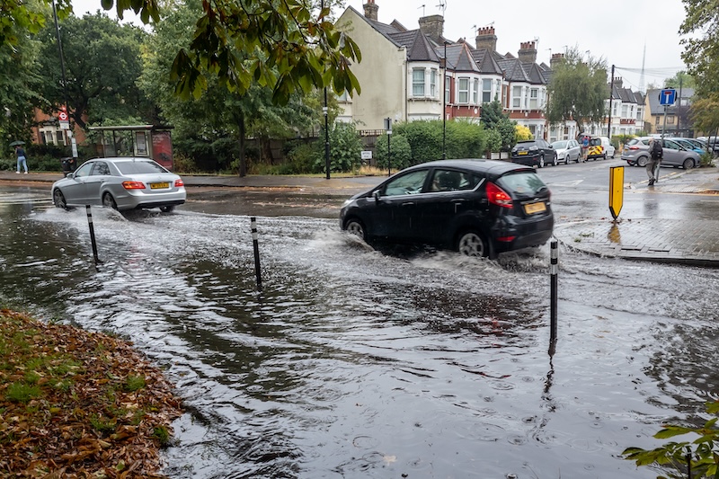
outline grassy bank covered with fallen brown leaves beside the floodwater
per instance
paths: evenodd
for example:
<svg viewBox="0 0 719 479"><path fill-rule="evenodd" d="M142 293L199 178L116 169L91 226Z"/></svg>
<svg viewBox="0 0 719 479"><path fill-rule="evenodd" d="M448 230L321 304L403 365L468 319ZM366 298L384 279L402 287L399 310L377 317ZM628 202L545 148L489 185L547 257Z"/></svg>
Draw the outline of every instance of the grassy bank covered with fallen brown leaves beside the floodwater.
<svg viewBox="0 0 719 479"><path fill-rule="evenodd" d="M181 413L129 343L0 310L0 477L160 477Z"/></svg>

